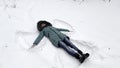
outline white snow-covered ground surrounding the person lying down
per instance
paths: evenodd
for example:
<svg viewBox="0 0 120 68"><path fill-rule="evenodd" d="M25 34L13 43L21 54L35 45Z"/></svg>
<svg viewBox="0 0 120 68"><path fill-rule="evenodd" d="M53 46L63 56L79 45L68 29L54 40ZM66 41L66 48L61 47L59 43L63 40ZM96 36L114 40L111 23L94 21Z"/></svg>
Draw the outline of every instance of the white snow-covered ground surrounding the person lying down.
<svg viewBox="0 0 120 68"><path fill-rule="evenodd" d="M119 0L0 0L0 68L119 68L119 18ZM39 20L71 30L90 57L80 64L47 38L28 50Z"/></svg>

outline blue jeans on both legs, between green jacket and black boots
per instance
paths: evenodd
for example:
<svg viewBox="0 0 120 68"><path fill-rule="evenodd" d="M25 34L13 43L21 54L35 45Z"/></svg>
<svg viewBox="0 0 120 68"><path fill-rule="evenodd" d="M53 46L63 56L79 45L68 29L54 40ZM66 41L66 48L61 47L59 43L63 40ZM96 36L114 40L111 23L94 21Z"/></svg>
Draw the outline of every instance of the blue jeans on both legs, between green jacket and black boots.
<svg viewBox="0 0 120 68"><path fill-rule="evenodd" d="M78 51L80 51L68 38L59 42L59 47L63 48L68 54L79 59Z"/></svg>

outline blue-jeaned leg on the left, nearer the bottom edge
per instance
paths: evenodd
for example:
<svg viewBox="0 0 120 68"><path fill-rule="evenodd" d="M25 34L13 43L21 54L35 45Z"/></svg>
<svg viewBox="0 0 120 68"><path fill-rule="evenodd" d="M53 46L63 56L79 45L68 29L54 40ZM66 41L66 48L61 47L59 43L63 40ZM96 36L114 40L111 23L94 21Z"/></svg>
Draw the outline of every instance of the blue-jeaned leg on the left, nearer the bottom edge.
<svg viewBox="0 0 120 68"><path fill-rule="evenodd" d="M71 56L79 59L79 54L76 53L74 50L72 50L69 46L67 46L64 42L59 42L59 47L63 48L68 54L70 54Z"/></svg>

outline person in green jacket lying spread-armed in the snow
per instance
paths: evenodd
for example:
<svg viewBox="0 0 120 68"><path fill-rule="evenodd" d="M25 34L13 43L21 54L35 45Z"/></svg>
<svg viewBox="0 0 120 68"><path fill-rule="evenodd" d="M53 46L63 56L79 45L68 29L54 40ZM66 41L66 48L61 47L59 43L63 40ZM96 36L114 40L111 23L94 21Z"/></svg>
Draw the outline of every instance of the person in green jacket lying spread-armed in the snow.
<svg viewBox="0 0 120 68"><path fill-rule="evenodd" d="M38 45L38 43L42 40L42 38L45 36L47 37L51 43L58 47L63 48L68 54L78 59L81 63L89 56L88 53L83 54L81 50L79 50L70 40L69 37L65 34L61 33L60 31L67 31L67 29L60 29L55 28L52 26L51 23L47 21L39 21L37 23L37 29L40 32L39 36L34 41L31 48ZM74 50L73 50L74 49Z"/></svg>

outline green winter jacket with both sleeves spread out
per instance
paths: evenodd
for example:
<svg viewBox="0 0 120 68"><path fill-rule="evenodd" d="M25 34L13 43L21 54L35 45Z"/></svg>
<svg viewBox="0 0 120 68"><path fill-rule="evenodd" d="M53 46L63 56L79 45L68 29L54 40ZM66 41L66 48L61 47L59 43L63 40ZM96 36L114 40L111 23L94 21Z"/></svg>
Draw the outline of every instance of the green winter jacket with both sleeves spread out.
<svg viewBox="0 0 120 68"><path fill-rule="evenodd" d="M69 38L68 36L61 33L60 31L69 32L69 30L67 30L67 29L60 29L60 28L55 28L52 26L47 26L42 31L40 31L40 34L38 35L38 37L36 38L36 40L34 41L33 44L38 45L38 43L45 36L51 41L51 43L54 46L58 47L59 41L62 41L64 38Z"/></svg>

